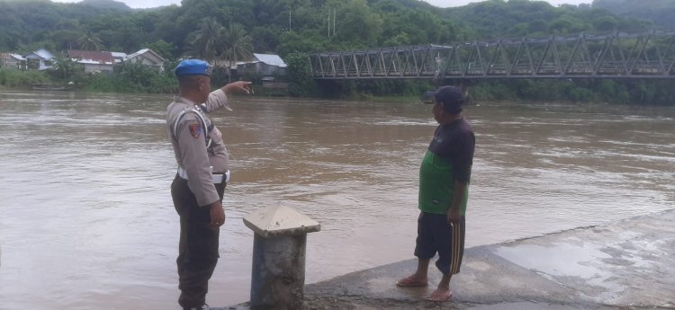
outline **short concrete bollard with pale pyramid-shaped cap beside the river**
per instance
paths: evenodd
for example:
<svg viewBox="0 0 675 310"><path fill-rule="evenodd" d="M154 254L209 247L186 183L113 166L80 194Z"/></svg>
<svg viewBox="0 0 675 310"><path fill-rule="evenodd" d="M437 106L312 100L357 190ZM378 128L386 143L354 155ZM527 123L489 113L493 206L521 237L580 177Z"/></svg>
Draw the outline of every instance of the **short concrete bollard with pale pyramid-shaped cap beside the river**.
<svg viewBox="0 0 675 310"><path fill-rule="evenodd" d="M320 231L319 222L278 206L248 214L244 224L255 232L251 310L301 310L307 234Z"/></svg>

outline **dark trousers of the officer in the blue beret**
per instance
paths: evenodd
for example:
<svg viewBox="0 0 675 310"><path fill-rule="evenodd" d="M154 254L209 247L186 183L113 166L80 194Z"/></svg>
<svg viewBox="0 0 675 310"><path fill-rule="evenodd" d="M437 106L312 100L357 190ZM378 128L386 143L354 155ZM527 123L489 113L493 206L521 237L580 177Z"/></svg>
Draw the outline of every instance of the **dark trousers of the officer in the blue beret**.
<svg viewBox="0 0 675 310"><path fill-rule="evenodd" d="M225 183L214 184L220 200ZM175 176L171 183L171 196L175 211L181 222L180 244L178 244L178 288L181 296L178 304L184 308L201 307L209 291L209 279L218 262L218 237L220 228L212 228L208 207L200 207L187 180Z"/></svg>

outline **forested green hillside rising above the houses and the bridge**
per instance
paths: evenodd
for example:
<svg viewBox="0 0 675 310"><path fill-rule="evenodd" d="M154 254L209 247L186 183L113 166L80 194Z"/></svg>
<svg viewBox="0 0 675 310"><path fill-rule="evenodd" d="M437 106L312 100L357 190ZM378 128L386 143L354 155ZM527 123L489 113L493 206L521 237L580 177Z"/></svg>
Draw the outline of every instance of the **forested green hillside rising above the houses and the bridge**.
<svg viewBox="0 0 675 310"><path fill-rule="evenodd" d="M631 1L637 0L626 4ZM250 38L253 50L282 57L318 50L653 29L647 20L619 17L590 4L553 6L533 0L486 0L447 9L421 0L184 0L154 10L131 9L114 0L0 0L0 51L129 53L157 43L174 58L207 58L221 55L224 44L213 49L202 42L224 41L216 30L235 24ZM211 26L214 31L209 31Z"/></svg>

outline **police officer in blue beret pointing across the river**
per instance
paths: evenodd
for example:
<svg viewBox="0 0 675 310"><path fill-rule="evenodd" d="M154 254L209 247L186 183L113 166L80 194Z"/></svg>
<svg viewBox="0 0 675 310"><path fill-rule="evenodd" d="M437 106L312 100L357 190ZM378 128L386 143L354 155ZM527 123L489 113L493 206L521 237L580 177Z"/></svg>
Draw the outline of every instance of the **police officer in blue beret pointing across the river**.
<svg viewBox="0 0 675 310"><path fill-rule="evenodd" d="M225 222L222 196L229 179L228 152L207 113L231 111L227 94L251 89L250 82L238 81L211 93L211 66L198 59L182 61L174 73L180 93L166 109L166 126L178 163L171 184L181 224L178 303L184 309L202 309L208 308L209 279L219 257L220 226Z"/></svg>

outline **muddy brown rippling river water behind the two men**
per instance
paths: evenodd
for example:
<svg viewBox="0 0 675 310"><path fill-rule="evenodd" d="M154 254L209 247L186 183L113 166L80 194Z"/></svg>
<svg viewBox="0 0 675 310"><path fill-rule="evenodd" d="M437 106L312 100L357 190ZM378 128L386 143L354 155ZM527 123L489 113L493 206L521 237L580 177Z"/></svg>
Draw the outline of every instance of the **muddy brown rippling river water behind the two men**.
<svg viewBox="0 0 675 310"><path fill-rule="evenodd" d="M0 93L0 309L177 309L170 96ZM285 205L320 221L307 283L413 258L416 102L238 97L211 305L247 300L252 232ZM675 208L675 109L482 103L467 246Z"/></svg>

